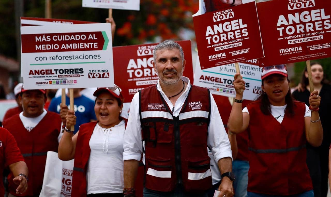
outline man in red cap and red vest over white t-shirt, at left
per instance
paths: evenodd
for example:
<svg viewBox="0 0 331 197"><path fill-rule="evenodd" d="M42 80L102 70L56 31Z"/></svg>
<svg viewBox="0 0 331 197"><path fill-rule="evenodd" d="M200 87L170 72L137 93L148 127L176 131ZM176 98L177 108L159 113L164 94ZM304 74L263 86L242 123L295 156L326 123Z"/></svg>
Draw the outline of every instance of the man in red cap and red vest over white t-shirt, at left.
<svg viewBox="0 0 331 197"><path fill-rule="evenodd" d="M27 191L16 193L14 175L8 176L9 192L12 196L39 196L45 171L47 151L58 150L58 136L61 131L60 115L46 111L45 90L25 90L22 87L20 99L23 112L3 122L3 127L14 136L30 174Z"/></svg>

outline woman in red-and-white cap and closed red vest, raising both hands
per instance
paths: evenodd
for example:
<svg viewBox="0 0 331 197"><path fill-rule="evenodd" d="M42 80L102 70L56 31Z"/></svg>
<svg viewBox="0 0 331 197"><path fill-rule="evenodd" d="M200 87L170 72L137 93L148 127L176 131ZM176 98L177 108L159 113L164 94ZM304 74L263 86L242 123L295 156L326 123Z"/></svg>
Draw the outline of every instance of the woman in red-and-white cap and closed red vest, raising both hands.
<svg viewBox="0 0 331 197"><path fill-rule="evenodd" d="M247 129L250 136L247 196L313 197L306 142L315 147L322 143L318 91L310 94L308 108L292 99L284 64L263 67L263 93L242 110L245 81L239 76L234 76L229 126L232 133Z"/></svg>

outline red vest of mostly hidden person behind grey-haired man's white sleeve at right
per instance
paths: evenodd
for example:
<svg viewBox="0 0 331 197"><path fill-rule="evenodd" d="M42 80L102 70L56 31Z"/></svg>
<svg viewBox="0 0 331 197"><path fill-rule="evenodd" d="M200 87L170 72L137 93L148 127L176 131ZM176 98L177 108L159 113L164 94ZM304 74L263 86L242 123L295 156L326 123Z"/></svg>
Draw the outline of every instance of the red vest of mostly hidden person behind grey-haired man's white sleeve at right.
<svg viewBox="0 0 331 197"><path fill-rule="evenodd" d="M227 131L227 122L230 117L232 106L229 102L228 97L223 97L219 95L213 95L214 100L216 102L219 114L221 114L222 122L225 127L226 133ZM244 108L249 103L253 102L252 100L243 100L242 107ZM238 154L235 160L240 161L248 161L248 133L247 131L244 131L240 134L236 135L237 145L238 145Z"/></svg>

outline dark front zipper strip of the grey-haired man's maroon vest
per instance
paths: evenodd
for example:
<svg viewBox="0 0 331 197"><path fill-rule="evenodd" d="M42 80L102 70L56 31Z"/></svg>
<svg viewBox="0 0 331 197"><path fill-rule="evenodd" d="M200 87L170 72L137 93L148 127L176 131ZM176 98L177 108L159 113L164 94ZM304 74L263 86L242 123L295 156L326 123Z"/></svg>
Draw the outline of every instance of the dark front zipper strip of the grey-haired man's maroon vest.
<svg viewBox="0 0 331 197"><path fill-rule="evenodd" d="M176 175L177 183L182 184L182 164L181 164L181 150L180 150L180 131L179 131L179 116L173 117L173 130L175 137L175 166L176 166Z"/></svg>

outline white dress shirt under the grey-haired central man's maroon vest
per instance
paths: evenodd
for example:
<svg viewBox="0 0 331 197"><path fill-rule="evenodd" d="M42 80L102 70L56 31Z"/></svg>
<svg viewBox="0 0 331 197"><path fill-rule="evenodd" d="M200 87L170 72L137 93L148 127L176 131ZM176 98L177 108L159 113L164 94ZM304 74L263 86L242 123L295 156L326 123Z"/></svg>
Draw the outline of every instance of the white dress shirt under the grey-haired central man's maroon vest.
<svg viewBox="0 0 331 197"><path fill-rule="evenodd" d="M188 96L189 90L191 88L190 80L187 77L182 77L182 80L188 85L182 95L176 100L173 106L171 101L167 98L166 94L163 92L160 81L157 84L157 89L161 92L163 99L165 99L170 110L173 109L173 116L178 116L179 112ZM157 96L157 95L155 95ZM219 115L215 100L211 94L211 116L210 124L208 127L208 137L207 145L211 147L215 161L218 162L219 159L230 157L232 159L231 146L228 136L225 132L224 125ZM139 116L139 92L133 96L130 114L127 122L127 126L124 134L124 144L123 144L123 160L137 160L141 158L141 153L143 152L143 142L141 136L141 125Z"/></svg>

